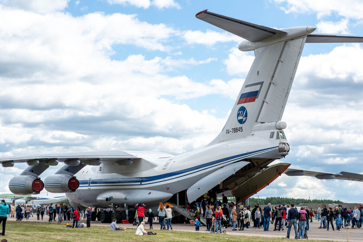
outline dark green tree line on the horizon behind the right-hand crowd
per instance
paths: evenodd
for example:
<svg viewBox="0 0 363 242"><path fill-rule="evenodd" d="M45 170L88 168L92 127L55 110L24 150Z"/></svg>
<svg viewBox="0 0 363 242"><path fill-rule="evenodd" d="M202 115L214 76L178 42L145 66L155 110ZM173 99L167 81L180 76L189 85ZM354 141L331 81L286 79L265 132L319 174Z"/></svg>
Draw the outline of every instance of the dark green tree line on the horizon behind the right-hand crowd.
<svg viewBox="0 0 363 242"><path fill-rule="evenodd" d="M257 203L260 204L282 204L285 203L290 204L290 203L294 203L294 204L299 204L299 203L322 203L322 204L328 204L328 203L335 203L335 204L339 204L339 203L343 203L342 201L339 200L330 200L330 199L305 199L305 198L288 198L288 197L266 197L266 198L260 198L258 199L257 197L250 197L249 198L249 205L255 205Z"/></svg>

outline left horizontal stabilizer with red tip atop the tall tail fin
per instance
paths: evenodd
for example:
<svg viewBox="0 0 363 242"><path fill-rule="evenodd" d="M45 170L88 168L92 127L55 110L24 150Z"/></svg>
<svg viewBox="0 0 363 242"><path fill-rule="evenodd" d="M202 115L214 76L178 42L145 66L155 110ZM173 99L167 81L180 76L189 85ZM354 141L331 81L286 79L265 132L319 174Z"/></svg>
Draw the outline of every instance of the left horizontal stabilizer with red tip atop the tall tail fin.
<svg viewBox="0 0 363 242"><path fill-rule="evenodd" d="M277 29L211 13L207 10L197 13L195 17L252 42L264 40L276 33L285 33Z"/></svg>

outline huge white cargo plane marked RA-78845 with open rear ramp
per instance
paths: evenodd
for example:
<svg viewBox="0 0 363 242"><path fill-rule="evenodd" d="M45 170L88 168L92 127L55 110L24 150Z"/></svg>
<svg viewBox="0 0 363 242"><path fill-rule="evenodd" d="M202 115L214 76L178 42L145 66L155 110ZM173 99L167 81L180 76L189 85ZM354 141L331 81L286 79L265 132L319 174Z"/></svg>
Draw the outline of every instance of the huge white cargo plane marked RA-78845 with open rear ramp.
<svg viewBox="0 0 363 242"><path fill-rule="evenodd" d="M197 19L245 39L241 51L254 51L252 66L241 83L228 120L217 137L203 148L184 154L147 151L97 151L1 157L4 167L26 162L9 181L16 194L66 193L72 206L111 208L92 213L92 220L110 218L133 222L135 204L157 208L168 202L185 217L181 207L207 191L231 191L244 201L278 176L315 176L319 179L362 181L354 173L314 172L269 165L289 154L281 121L305 43L362 43L363 36L315 33L315 27L273 29L231 17L201 11ZM49 166L63 162L55 174L39 178ZM131 209L131 210L130 210Z"/></svg>

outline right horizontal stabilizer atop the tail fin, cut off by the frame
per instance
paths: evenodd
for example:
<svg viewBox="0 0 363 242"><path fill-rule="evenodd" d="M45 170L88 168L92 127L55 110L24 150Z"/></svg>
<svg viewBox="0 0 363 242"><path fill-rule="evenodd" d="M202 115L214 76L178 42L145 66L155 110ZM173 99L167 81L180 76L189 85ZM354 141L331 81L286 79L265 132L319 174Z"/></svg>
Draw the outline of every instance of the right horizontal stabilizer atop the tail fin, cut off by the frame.
<svg viewBox="0 0 363 242"><path fill-rule="evenodd" d="M362 35L334 35L314 33L306 37L305 43L362 43Z"/></svg>

